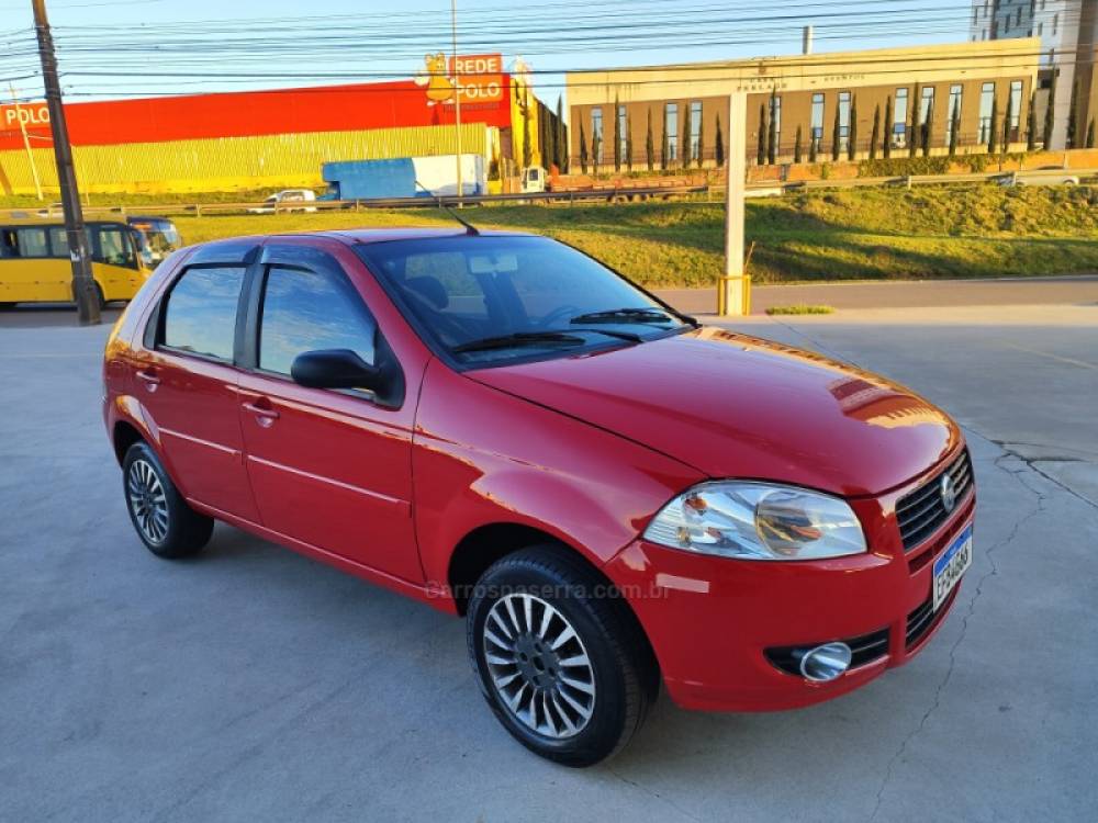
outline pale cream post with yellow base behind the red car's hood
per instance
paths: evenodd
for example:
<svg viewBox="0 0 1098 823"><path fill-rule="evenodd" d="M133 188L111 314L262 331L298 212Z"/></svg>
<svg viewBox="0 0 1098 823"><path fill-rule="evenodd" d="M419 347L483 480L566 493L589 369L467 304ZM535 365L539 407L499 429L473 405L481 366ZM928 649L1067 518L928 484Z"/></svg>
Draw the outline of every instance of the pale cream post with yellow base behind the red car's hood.
<svg viewBox="0 0 1098 823"><path fill-rule="evenodd" d="M742 315L750 303L750 281L743 271L744 191L747 189L748 98L728 95L728 185L725 207L725 277L717 289L717 313Z"/></svg>

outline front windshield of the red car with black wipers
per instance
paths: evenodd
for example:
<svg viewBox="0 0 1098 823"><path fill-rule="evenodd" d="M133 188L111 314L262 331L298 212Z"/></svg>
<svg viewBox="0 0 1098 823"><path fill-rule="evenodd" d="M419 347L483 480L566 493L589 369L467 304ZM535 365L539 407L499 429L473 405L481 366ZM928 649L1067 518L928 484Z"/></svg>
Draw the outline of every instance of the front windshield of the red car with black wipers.
<svg viewBox="0 0 1098 823"><path fill-rule="evenodd" d="M688 327L597 261L544 237L357 248L435 341L470 364L636 345Z"/></svg>

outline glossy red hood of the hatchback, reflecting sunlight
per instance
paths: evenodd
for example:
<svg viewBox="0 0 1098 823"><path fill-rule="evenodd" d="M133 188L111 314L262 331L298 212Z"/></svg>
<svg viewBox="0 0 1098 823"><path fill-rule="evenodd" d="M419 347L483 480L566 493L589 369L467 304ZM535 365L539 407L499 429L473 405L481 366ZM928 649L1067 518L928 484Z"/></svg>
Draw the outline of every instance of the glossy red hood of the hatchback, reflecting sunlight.
<svg viewBox="0 0 1098 823"><path fill-rule="evenodd" d="M467 376L709 477L770 480L844 496L906 483L961 440L949 417L895 383L718 328Z"/></svg>

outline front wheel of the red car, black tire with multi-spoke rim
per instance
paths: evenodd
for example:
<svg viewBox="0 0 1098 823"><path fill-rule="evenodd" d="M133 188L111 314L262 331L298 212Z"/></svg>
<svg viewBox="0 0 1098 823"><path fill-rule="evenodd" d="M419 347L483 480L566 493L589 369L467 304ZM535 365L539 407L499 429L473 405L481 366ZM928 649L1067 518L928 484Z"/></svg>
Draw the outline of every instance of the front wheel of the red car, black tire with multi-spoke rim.
<svg viewBox="0 0 1098 823"><path fill-rule="evenodd" d="M484 699L519 743L565 766L592 766L621 751L640 728L659 691L659 672L640 627L628 606L607 588L605 579L582 557L563 546L547 544L524 549L495 563L481 577L469 602L466 639ZM509 624L515 630L512 635L497 622L501 615L507 619L505 598L511 598L511 604L533 604L529 617L519 613L517 624ZM501 610L493 616L497 604ZM541 631L547 612L556 616L549 618L550 628ZM488 639L485 627L496 640ZM557 655L549 646L567 635L565 628L571 628L576 639L562 643ZM539 631L550 640L542 643ZM496 642L501 639L509 644L509 652L501 651L503 645ZM526 652L529 654L524 656ZM501 667L500 654L513 655L515 662ZM587 663L565 668L575 665L569 661L581 658ZM508 672L515 672L516 678L497 688L494 677L506 680ZM563 683L563 672L573 684L586 686L590 679L592 694ZM522 687L517 692L522 697L511 694L505 698L504 694L514 690L516 684ZM522 699L530 699L527 688L533 699L529 717L523 719L518 711ZM508 704L508 699L519 703L518 710ZM575 700L581 711L573 711ZM586 717L583 711L589 712ZM539 717L544 722L538 722ZM565 720L578 731L565 729ZM539 725L545 725L546 731L534 728ZM562 730L568 736L560 736Z"/></svg>

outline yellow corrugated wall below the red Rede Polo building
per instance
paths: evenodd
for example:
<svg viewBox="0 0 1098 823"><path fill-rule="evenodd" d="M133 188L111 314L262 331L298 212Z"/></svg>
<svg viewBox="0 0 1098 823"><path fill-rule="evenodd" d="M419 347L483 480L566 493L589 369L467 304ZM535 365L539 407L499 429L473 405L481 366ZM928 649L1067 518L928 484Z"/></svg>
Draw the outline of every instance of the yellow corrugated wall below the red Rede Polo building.
<svg viewBox="0 0 1098 823"><path fill-rule="evenodd" d="M490 133L493 131L483 123L462 124L462 150L481 154L488 162L491 159L490 140L494 138ZM537 138L536 129L534 138ZM453 126L421 126L76 146L74 157L82 191L164 193L317 189L324 185L321 179L321 165L324 162L449 155L456 151ZM56 192L57 171L53 149L34 148L32 153L43 187ZM25 151L0 151L0 181L5 178L10 181L11 193L34 193Z"/></svg>

